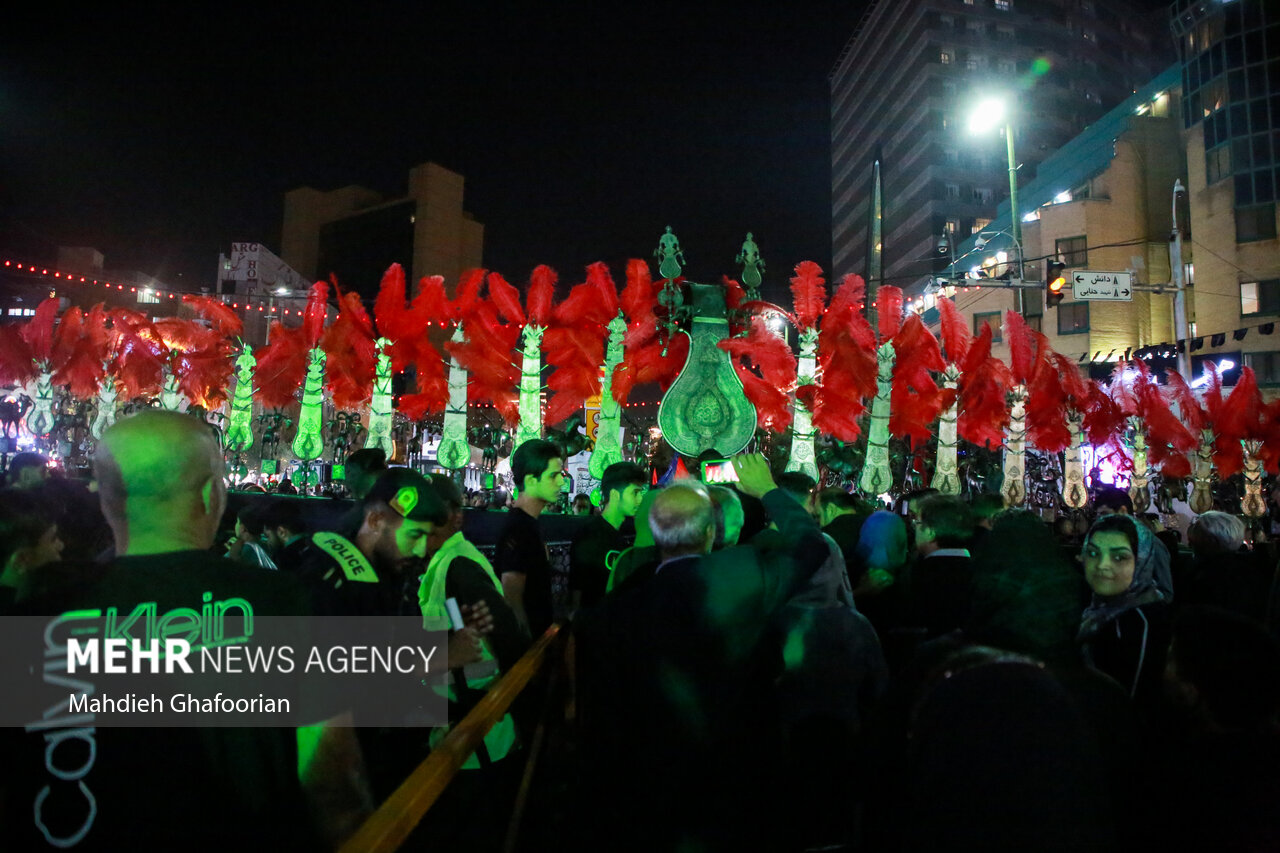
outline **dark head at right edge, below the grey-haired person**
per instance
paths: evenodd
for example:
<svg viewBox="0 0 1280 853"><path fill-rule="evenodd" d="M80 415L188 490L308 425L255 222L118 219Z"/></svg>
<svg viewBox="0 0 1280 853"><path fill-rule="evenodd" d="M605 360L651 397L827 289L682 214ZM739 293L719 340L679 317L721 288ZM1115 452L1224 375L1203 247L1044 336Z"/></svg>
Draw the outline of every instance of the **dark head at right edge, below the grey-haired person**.
<svg viewBox="0 0 1280 853"><path fill-rule="evenodd" d="M1274 730L1280 724L1280 644L1257 621L1215 607L1174 620L1165 678L1175 701L1210 730Z"/></svg>

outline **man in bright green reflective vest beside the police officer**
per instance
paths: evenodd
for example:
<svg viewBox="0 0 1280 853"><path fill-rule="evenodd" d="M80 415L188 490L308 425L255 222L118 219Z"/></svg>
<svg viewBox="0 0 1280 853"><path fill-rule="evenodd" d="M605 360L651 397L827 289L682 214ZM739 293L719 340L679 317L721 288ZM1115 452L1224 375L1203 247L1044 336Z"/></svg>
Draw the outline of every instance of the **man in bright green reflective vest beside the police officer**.
<svg viewBox="0 0 1280 853"><path fill-rule="evenodd" d="M480 660L449 672L449 722L457 724L502 672L520 660L529 640L503 598L502 583L489 560L462 533L462 491L444 474L433 474L430 488L444 506L447 520L428 538L430 560L417 592L422 628L429 631L454 628L445 605L451 598L460 607L488 605L493 615L493 631L481 644ZM433 730L433 747L445 734L447 727ZM489 729L484 743L467 757L442 800L428 813L425 838L440 849L498 849L521 763L516 726L508 713Z"/></svg>

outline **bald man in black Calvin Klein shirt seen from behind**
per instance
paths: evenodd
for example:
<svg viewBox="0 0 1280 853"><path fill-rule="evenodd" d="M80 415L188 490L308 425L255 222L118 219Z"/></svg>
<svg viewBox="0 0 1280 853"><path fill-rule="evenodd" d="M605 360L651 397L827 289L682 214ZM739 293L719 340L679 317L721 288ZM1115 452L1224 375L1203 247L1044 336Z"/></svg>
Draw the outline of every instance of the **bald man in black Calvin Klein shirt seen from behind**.
<svg viewBox="0 0 1280 853"><path fill-rule="evenodd" d="M188 621L210 602L233 598L247 601L255 613L306 612L294 579L210 552L227 494L218 443L198 420L159 410L119 420L102 437L95 469L116 558L74 585L46 590L29 612L78 610L83 617L99 611L132 637L147 634L154 622L128 622L140 607L186 612ZM298 779L294 729L79 726L69 721L27 735L10 730L12 749L0 751L6 756L0 763L6 849L320 845ZM329 760L349 771L348 758L358 772L352 743L349 734L325 740L311 772L337 770L323 765ZM333 777L308 780L316 790L334 790ZM329 799L325 818L355 822L362 803L352 802Z"/></svg>

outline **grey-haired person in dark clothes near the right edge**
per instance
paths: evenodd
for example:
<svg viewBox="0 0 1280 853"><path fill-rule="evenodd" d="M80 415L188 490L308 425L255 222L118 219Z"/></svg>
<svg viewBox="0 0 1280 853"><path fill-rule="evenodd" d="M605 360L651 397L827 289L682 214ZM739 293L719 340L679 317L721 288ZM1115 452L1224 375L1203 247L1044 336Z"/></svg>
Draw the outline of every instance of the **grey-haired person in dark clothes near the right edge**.
<svg viewBox="0 0 1280 853"><path fill-rule="evenodd" d="M1244 521L1210 511L1192 523L1187 540L1196 552L1179 605L1210 605L1262 621L1267 611L1274 567L1265 551L1244 543Z"/></svg>

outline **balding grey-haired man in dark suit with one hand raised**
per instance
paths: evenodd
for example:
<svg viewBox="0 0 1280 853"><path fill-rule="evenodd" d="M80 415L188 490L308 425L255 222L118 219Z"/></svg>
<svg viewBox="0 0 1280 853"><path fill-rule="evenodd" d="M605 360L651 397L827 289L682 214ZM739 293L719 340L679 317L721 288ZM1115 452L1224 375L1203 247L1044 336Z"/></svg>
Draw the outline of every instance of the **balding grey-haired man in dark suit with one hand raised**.
<svg viewBox="0 0 1280 853"><path fill-rule="evenodd" d="M649 512L654 575L607 596L576 626L586 789L600 798L589 815L596 840L614 849L741 847L778 830L769 628L827 546L763 456L733 467L783 535L712 553L705 487L671 485Z"/></svg>

